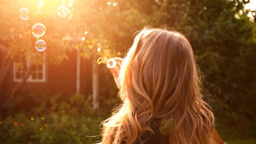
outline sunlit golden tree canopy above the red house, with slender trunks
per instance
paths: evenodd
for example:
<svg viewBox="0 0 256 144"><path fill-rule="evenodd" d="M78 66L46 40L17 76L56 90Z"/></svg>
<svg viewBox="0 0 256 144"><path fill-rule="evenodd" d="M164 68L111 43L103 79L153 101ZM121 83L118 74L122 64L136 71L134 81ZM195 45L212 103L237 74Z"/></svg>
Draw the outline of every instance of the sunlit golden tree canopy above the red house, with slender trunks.
<svg viewBox="0 0 256 144"><path fill-rule="evenodd" d="M96 104L94 107L98 108L97 67L95 66L97 57L110 58L119 50L126 51L126 48L118 49L120 42L115 41L125 40L129 36L131 42L131 33L149 24L153 20L151 16L155 16L140 13L138 9L129 6L129 3L132 2L120 1L118 4L113 4L113 2L108 4L107 1L100 0L4 1L0 21L0 46L3 56L0 86L4 83L3 78L9 71L12 62L21 54L26 56L31 63L42 62L40 57L42 54L47 57L49 62L61 63L63 59L67 58L66 50L80 49L81 56L94 57L93 83L95 87L94 104ZM64 18L57 15L60 5L65 5L69 9L69 14ZM28 20L19 18L20 8L29 10ZM47 45L44 52L38 52L34 48L37 39L31 34L31 29L36 23L42 23L46 27L46 33L40 37ZM63 39L67 37L71 41ZM2 104L13 100L15 92L26 83L29 75L30 69L28 68L22 82L11 88L12 91L2 99ZM3 98L3 95L1 97Z"/></svg>

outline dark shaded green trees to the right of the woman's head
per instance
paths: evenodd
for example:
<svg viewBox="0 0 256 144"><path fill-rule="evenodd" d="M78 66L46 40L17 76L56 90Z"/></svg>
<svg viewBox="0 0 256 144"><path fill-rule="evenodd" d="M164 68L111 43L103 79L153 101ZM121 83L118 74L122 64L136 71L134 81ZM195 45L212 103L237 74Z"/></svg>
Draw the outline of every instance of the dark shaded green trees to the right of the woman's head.
<svg viewBox="0 0 256 144"><path fill-rule="evenodd" d="M256 27L247 17L255 11L244 9L250 0L167 2L165 24L189 38L211 107L226 125L250 128L256 110Z"/></svg>

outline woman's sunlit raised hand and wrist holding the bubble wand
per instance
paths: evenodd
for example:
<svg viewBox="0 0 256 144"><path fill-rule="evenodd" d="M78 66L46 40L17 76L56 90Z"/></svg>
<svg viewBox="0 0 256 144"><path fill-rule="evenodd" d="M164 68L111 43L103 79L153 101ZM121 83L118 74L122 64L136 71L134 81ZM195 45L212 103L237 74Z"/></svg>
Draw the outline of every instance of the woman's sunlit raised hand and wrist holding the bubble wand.
<svg viewBox="0 0 256 144"><path fill-rule="evenodd" d="M120 90L121 86L120 86L120 80L119 80L119 73L120 73L120 68L121 68L121 63L123 62L122 58L113 58L116 61L116 67L114 68L108 68L110 70L110 72L113 74L114 76L114 80L116 82L116 86L117 88Z"/></svg>

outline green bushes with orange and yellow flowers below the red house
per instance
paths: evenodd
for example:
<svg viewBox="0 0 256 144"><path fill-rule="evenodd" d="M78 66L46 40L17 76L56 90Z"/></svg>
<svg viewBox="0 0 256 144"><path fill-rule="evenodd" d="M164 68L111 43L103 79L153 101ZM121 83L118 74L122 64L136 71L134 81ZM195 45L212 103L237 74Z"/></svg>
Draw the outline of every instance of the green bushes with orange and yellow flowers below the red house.
<svg viewBox="0 0 256 144"><path fill-rule="evenodd" d="M91 144L99 141L99 125L104 120L91 109L90 96L72 96L69 103L60 94L30 113L8 117L0 123L0 143ZM58 102L56 102L58 101ZM94 137L90 137L94 136Z"/></svg>

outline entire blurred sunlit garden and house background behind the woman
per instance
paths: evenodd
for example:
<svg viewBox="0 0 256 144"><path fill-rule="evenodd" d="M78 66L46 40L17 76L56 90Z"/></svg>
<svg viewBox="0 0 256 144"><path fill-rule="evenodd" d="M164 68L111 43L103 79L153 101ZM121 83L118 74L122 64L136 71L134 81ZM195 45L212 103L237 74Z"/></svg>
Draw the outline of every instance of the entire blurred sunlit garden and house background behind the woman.
<svg viewBox="0 0 256 144"><path fill-rule="evenodd" d="M1 0L0 143L99 141L120 100L97 59L124 57L134 32L151 25L190 40L223 140L255 144L255 9L255 0ZM37 23L45 29L32 30Z"/></svg>

